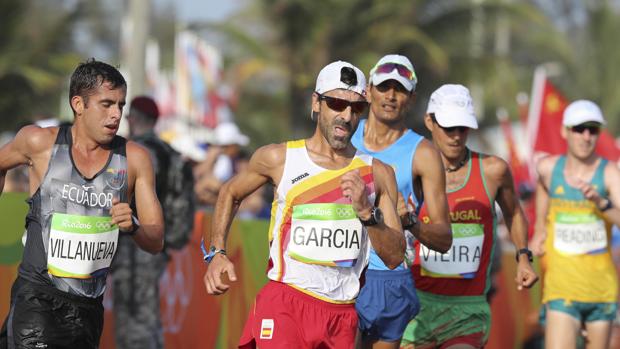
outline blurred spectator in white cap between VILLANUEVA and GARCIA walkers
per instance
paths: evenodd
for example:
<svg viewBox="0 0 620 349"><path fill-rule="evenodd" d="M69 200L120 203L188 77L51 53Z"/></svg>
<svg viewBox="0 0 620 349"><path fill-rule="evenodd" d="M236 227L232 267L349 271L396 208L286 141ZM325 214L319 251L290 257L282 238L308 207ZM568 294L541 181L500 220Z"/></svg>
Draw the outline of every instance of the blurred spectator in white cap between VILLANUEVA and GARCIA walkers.
<svg viewBox="0 0 620 349"><path fill-rule="evenodd" d="M201 204L214 206L220 187L235 172L235 161L241 147L250 142L232 122L219 124L215 128L215 142L207 149L205 160L195 169L196 195Z"/></svg>

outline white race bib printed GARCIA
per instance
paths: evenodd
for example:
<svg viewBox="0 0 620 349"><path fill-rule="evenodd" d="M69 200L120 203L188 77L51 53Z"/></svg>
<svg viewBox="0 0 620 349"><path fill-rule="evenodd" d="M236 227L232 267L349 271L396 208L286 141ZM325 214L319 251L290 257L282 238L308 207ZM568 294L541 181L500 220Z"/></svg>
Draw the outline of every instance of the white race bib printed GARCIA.
<svg viewBox="0 0 620 349"><path fill-rule="evenodd" d="M352 267L360 254L362 229L350 204L294 206L288 254L304 263Z"/></svg>

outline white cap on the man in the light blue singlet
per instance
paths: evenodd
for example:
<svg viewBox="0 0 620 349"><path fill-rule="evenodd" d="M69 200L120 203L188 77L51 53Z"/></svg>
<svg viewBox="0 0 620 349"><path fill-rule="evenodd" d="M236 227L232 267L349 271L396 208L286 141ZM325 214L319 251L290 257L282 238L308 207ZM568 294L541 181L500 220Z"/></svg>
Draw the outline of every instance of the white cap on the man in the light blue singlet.
<svg viewBox="0 0 620 349"><path fill-rule="evenodd" d="M397 66L405 67L404 71L399 70ZM387 80L396 80L407 91L415 90L418 83L418 77L415 75L413 64L405 56L401 55L385 55L370 70L370 83L379 85Z"/></svg>

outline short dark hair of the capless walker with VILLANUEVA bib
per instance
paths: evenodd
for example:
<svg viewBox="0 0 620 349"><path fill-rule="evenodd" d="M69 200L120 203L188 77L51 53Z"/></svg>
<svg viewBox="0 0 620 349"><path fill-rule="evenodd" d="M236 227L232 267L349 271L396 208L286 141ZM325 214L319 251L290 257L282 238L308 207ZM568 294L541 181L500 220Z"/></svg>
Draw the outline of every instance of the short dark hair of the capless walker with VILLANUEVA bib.
<svg viewBox="0 0 620 349"><path fill-rule="evenodd" d="M88 96L94 93L99 86L109 83L112 88L127 87L125 78L113 66L91 58L84 63L80 63L71 74L69 84L69 105L74 96L80 96L84 103L88 104ZM73 110L73 105L71 105ZM73 110L75 114L75 110Z"/></svg>

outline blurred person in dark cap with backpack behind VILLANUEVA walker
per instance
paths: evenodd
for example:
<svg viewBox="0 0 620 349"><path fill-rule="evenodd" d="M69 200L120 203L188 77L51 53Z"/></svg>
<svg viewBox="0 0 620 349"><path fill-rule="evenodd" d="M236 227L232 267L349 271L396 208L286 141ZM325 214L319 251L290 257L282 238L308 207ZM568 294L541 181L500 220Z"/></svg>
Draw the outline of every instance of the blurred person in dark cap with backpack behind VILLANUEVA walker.
<svg viewBox="0 0 620 349"><path fill-rule="evenodd" d="M151 155L155 170L155 191L162 203L165 217L164 248L169 248L171 237L191 233L194 214L191 191L193 184L189 184L191 196L181 198L182 202L177 203L184 206L182 213L173 212L174 216L182 216L181 219L189 221L186 222L189 226L171 226L176 220L170 217L170 213L176 210L176 207L170 202L179 201L179 190L176 190L176 187L183 186L183 183L174 182L191 182L193 176L191 168L186 169L181 166L182 162L175 162L181 155L155 134L154 127L158 117L159 109L155 101L150 97L139 96L131 102L127 121L131 139L146 147ZM189 179L183 176L187 171ZM159 279L166 269L169 256L167 253L151 255L141 251L127 237L119 238L118 253L121 258L116 258L113 263L116 346L119 349L163 348Z"/></svg>

